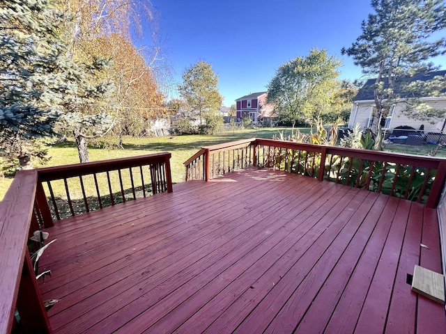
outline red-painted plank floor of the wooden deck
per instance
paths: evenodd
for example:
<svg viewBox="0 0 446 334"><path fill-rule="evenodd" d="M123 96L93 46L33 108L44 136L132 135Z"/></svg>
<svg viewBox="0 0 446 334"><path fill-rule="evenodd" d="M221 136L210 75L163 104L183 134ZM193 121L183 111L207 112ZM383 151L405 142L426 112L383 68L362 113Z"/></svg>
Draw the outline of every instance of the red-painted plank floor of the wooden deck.
<svg viewBox="0 0 446 334"><path fill-rule="evenodd" d="M248 169L47 231L56 333L446 333L406 283L442 270L436 210L414 202Z"/></svg>

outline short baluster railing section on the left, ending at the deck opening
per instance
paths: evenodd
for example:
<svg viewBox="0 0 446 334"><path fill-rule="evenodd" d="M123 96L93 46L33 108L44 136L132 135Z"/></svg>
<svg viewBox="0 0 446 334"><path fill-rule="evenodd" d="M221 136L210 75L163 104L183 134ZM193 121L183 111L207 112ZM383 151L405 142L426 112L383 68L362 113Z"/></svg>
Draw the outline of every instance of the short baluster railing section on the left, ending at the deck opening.
<svg viewBox="0 0 446 334"><path fill-rule="evenodd" d="M40 168L38 172L50 198L52 216L60 220L151 193L171 192L170 157L170 153L164 152ZM65 191L55 194L54 185ZM77 199L72 200L73 197Z"/></svg>

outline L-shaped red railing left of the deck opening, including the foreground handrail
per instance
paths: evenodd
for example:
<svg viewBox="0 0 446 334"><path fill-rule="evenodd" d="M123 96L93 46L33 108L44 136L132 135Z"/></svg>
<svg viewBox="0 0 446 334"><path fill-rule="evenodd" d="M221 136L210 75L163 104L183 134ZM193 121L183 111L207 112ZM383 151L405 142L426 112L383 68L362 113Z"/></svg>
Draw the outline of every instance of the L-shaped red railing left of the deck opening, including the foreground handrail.
<svg viewBox="0 0 446 334"><path fill-rule="evenodd" d="M171 192L170 157L164 152L17 173L0 202L0 334L11 333L13 328L24 333L52 333L27 246L33 232L64 218L63 202L74 216L149 193ZM65 199L54 193L54 182L62 182ZM83 205L70 196L75 186L82 193L79 202ZM104 188L107 194L101 193ZM94 189L93 196L89 189Z"/></svg>

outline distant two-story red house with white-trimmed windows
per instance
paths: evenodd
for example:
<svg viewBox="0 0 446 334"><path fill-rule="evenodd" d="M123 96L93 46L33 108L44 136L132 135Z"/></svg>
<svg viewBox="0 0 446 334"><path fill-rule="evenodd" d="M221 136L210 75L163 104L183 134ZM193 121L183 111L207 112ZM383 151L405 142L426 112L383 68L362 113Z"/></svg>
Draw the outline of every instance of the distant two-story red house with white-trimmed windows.
<svg viewBox="0 0 446 334"><path fill-rule="evenodd" d="M252 93L236 100L237 120L249 117L252 122L264 122L272 118L274 106L266 103L267 92Z"/></svg>

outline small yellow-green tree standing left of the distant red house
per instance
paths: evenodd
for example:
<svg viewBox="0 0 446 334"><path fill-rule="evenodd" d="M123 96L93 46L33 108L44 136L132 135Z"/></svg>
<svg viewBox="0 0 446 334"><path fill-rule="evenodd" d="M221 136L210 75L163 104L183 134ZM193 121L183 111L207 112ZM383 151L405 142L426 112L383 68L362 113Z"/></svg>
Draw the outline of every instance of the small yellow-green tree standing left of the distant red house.
<svg viewBox="0 0 446 334"><path fill-rule="evenodd" d="M183 72L183 84L178 85L180 95L187 102L194 114L213 122L222 105L222 95L218 92L218 76L212 65L205 61L187 68Z"/></svg>

